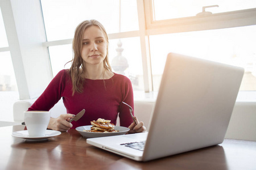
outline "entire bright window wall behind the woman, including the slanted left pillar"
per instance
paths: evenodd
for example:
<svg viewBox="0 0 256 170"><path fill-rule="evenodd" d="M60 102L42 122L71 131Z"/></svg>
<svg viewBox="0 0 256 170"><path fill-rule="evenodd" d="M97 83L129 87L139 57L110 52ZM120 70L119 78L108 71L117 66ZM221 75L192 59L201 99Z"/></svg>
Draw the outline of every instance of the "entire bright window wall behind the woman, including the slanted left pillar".
<svg viewBox="0 0 256 170"><path fill-rule="evenodd" d="M13 101L19 98L18 87L19 92L24 92L23 99L37 97L43 92L37 89L34 78L28 79L27 84L23 83L29 75L37 75L28 67L30 63L33 67L35 62L40 62L33 58L37 49L43 49L42 56L46 57L47 64L51 64L52 70L46 64L44 68L48 74L43 73L47 80L51 80L51 71L55 76L60 70L71 66L65 63L73 57L75 29L88 19L96 19L106 28L110 37L110 65L115 73L130 78L134 94L138 91L141 96L149 94L150 99L152 94L157 94L170 52L241 66L245 68L245 75L240 91L247 92L240 94L256 92L255 0L40 0L33 3L11 1L0 5L1 120L12 121L5 114L13 112ZM26 8L27 5L31 5L30 8ZM218 7L205 8L208 14L212 12L213 15L196 16L202 12L202 7L213 5ZM27 37L26 34L30 30L28 28L33 27L24 23L32 26L40 24L31 21L28 16L42 24L42 27L36 27L40 29L36 41L36 37ZM20 37L24 41L20 41ZM31 41L26 44L26 40ZM24 76L15 77L18 71L23 71Z"/></svg>

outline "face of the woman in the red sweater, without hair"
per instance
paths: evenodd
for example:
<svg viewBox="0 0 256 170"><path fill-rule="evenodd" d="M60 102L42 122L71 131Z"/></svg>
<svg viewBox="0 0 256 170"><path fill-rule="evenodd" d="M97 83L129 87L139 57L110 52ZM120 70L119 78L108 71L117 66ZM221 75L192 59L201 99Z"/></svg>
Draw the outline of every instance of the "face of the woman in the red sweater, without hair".
<svg viewBox="0 0 256 170"><path fill-rule="evenodd" d="M85 65L103 65L107 53L107 42L104 33L95 25L86 28L82 37L81 56Z"/></svg>

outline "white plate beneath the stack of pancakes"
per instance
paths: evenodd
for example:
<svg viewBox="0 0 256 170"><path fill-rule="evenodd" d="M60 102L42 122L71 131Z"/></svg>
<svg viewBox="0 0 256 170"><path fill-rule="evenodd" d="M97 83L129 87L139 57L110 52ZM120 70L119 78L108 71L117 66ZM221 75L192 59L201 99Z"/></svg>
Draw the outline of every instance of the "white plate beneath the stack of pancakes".
<svg viewBox="0 0 256 170"><path fill-rule="evenodd" d="M114 136L114 135L121 135L126 134L127 131L129 131L129 128L123 127L123 126L115 126L114 130L119 130L117 132L109 132L109 133L101 133L101 132L90 132L90 131L84 131L84 130L90 130L92 125L88 126L79 126L76 128L79 133L86 138L97 138L97 137L108 137L108 136Z"/></svg>

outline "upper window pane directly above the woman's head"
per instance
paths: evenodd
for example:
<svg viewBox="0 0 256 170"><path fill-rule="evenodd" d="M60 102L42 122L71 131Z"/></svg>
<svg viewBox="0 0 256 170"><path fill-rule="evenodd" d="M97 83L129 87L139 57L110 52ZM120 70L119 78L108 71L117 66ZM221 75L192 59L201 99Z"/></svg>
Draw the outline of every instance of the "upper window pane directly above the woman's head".
<svg viewBox="0 0 256 170"><path fill-rule="evenodd" d="M137 1L121 1L120 31L139 29ZM101 22L107 33L119 32L119 1L117 0L42 0L44 24L48 41L72 39L79 23L88 19Z"/></svg>

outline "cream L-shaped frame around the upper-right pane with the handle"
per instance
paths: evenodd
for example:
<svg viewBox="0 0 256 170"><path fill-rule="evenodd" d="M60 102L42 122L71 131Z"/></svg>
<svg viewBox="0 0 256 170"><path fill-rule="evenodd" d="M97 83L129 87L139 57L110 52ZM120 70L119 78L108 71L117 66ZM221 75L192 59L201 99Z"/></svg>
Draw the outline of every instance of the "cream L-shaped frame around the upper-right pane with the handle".
<svg viewBox="0 0 256 170"><path fill-rule="evenodd" d="M144 0L145 15L148 16L145 19L147 35L233 28L256 24L256 8L221 12L208 16L154 20L152 1L154 0Z"/></svg>

